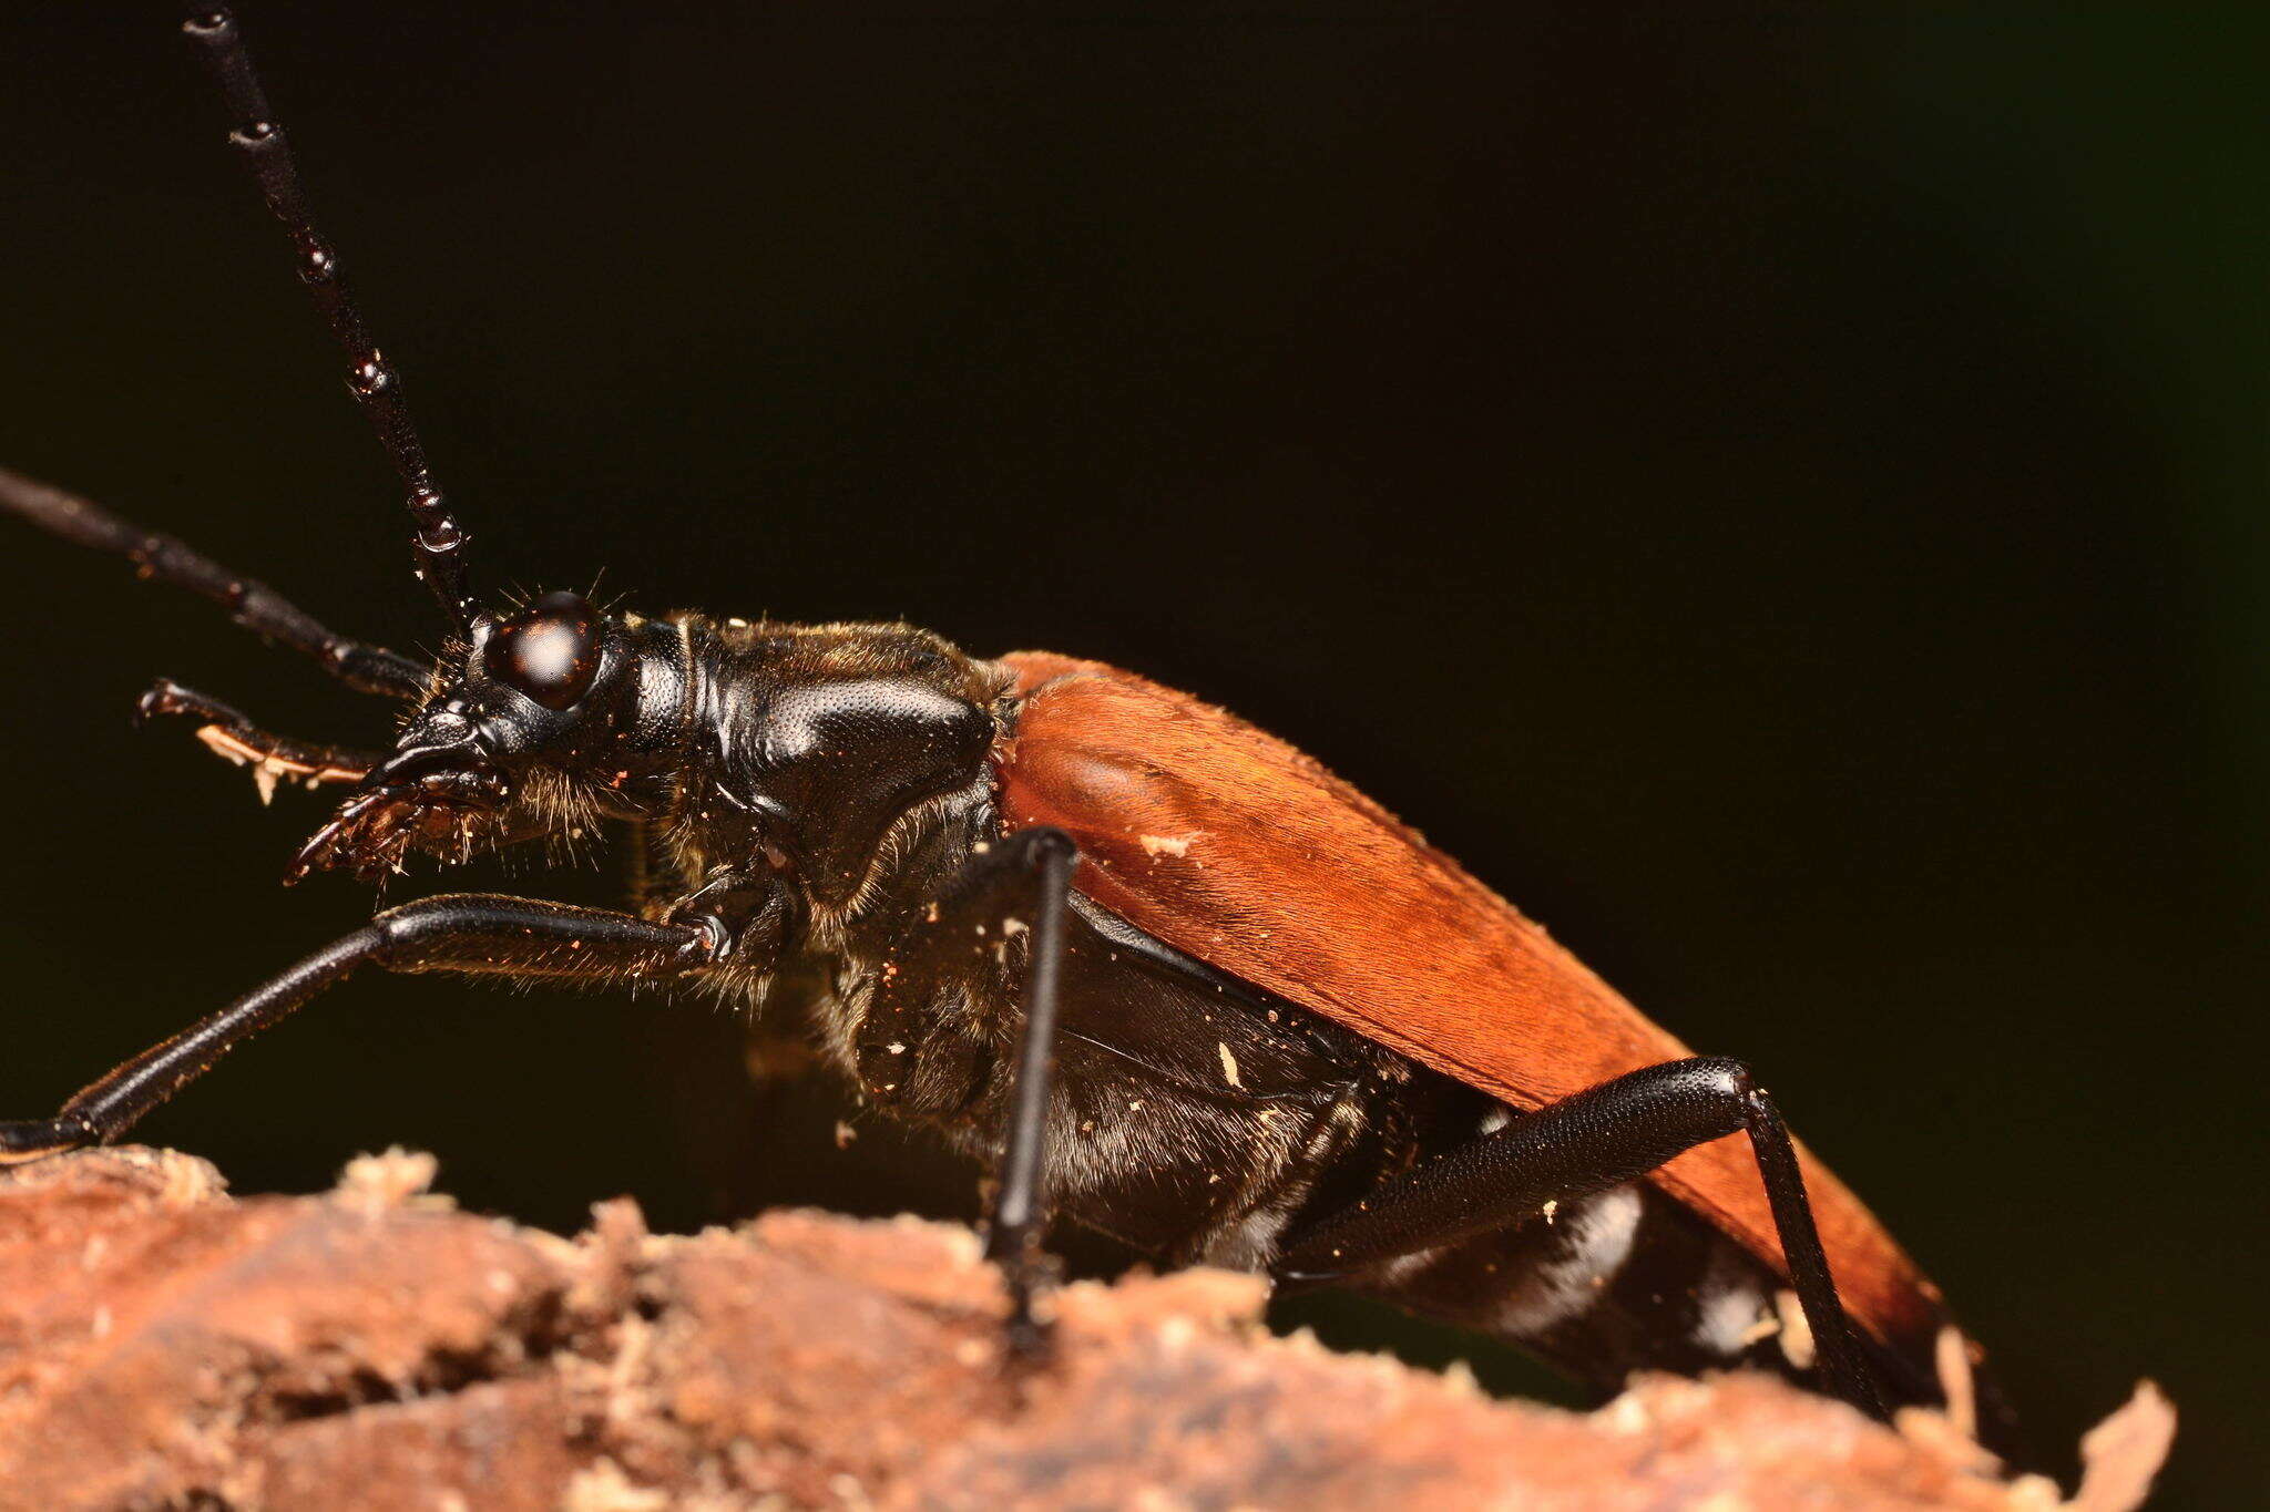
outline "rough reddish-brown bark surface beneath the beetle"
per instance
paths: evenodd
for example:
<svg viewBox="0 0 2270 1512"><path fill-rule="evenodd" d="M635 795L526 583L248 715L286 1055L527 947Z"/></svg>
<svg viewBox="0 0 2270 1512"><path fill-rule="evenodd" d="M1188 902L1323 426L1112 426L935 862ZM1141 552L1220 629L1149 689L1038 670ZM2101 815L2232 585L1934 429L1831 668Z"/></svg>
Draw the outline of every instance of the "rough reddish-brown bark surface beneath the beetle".
<svg viewBox="0 0 2270 1512"><path fill-rule="evenodd" d="M431 1161L229 1199L191 1156L0 1174L0 1507L2050 1507L1943 1419L1764 1376L1594 1415L1258 1326L1251 1279L1076 1285L1006 1369L962 1229L772 1213L577 1240L456 1213ZM2138 1401L2145 1401L2143 1396ZM2172 1419L2100 1430L2134 1505Z"/></svg>

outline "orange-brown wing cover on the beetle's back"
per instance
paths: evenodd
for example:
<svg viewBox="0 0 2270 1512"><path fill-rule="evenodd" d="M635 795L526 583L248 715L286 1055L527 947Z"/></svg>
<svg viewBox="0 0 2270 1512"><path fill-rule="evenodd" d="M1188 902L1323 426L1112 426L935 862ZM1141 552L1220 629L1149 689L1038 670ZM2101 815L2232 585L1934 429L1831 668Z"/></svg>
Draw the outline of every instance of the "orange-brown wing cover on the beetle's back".
<svg viewBox="0 0 2270 1512"><path fill-rule="evenodd" d="M1012 653L1010 830L1058 825L1076 886L1201 961L1523 1108L1693 1054L1380 805L1253 725L1135 673ZM1846 1308L1930 1358L1936 1290L1809 1152ZM1782 1267L1743 1136L1650 1177ZM1786 1269L1786 1267L1784 1267Z"/></svg>

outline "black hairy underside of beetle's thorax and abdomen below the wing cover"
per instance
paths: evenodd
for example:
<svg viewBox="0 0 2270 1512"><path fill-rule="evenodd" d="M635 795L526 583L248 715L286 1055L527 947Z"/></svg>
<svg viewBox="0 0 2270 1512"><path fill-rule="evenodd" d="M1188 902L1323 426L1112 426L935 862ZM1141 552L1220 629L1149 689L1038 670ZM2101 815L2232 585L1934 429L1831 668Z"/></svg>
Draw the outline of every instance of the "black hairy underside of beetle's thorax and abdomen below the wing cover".
<svg viewBox="0 0 2270 1512"><path fill-rule="evenodd" d="M949 966L903 950L910 938L903 923L878 929L883 954L833 977L817 1004L824 1054L874 1106L990 1156L1015 1088L983 1047L1015 1022L1022 963L981 938ZM1303 1224L1519 1118L1085 898L1067 934L1058 1070L1053 1201L1169 1265L1269 1269ZM1766 1342L1766 1265L1643 1183L1346 1285L1609 1390L1632 1369L1743 1358L1802 1371Z"/></svg>

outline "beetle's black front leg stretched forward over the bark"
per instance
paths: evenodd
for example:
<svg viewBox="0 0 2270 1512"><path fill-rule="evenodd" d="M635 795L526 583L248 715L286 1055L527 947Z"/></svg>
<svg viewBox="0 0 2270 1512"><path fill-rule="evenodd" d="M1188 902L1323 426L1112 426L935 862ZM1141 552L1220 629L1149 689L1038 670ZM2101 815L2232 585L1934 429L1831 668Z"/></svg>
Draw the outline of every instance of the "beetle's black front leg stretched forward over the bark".
<svg viewBox="0 0 2270 1512"><path fill-rule="evenodd" d="M0 1122L0 1165L100 1145L134 1127L241 1043L359 966L556 977L592 984L665 979L708 966L697 927L531 898L454 893L379 914L211 1018L82 1088L54 1118Z"/></svg>

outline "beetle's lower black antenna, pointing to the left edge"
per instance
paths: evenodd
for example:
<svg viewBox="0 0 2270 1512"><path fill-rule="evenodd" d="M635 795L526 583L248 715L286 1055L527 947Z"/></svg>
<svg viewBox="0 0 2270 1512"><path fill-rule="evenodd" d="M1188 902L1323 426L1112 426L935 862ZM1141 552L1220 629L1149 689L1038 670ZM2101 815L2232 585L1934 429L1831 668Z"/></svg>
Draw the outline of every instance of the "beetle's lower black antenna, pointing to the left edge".
<svg viewBox="0 0 2270 1512"><path fill-rule="evenodd" d="M352 689L395 698L422 698L427 691L431 669L424 662L331 635L266 583L234 574L175 537L143 530L77 494L0 467L0 510L66 542L123 555L145 578L211 598L243 628L316 657Z"/></svg>

